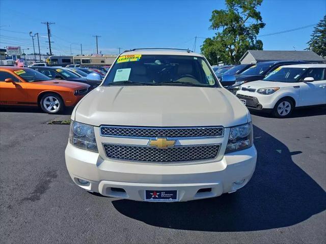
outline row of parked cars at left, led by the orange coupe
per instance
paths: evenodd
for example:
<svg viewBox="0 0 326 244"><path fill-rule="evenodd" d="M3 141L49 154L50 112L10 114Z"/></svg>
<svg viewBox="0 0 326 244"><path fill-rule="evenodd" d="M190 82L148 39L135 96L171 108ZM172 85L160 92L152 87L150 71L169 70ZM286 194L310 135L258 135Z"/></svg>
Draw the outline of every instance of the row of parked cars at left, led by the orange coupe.
<svg viewBox="0 0 326 244"><path fill-rule="evenodd" d="M46 113L60 113L100 85L104 75L78 67L2 66L0 105L39 106Z"/></svg>

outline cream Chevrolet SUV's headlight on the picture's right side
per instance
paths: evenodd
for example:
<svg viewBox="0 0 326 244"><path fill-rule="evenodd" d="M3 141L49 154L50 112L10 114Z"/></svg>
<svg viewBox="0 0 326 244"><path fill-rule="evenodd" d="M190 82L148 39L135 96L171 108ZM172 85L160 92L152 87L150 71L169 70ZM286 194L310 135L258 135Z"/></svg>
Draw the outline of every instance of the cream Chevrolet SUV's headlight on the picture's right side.
<svg viewBox="0 0 326 244"><path fill-rule="evenodd" d="M247 123L241 126L230 128L228 145L225 153L247 149L253 145L253 124Z"/></svg>

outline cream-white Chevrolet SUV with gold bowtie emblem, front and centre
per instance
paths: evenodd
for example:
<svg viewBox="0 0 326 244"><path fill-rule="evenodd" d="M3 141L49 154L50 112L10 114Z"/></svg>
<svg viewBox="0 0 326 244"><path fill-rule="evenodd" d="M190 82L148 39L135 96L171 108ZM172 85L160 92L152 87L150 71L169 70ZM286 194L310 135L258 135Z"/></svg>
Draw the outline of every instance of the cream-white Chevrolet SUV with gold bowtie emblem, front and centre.
<svg viewBox="0 0 326 244"><path fill-rule="evenodd" d="M198 53L122 53L71 119L69 174L104 196L216 197L242 188L255 170L250 113Z"/></svg>

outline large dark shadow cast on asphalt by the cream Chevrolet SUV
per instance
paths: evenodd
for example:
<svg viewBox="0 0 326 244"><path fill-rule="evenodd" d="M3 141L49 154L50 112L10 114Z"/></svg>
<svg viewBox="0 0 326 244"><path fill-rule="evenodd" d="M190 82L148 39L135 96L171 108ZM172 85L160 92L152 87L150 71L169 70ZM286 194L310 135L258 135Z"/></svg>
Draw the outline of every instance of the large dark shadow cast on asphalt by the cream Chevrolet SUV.
<svg viewBox="0 0 326 244"><path fill-rule="evenodd" d="M291 226L326 209L325 191L298 167L279 140L254 126L258 151L249 184L217 198L150 203L115 200L123 215L146 224L197 231L255 231Z"/></svg>

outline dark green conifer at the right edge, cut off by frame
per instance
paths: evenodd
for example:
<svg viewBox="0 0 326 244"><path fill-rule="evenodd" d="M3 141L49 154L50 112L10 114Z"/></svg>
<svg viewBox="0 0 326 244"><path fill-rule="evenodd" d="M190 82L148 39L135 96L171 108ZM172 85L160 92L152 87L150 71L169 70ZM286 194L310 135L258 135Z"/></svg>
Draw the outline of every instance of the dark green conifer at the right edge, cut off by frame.
<svg viewBox="0 0 326 244"><path fill-rule="evenodd" d="M317 53L319 56L326 56L326 15L314 27L310 41L307 42L308 48Z"/></svg>

